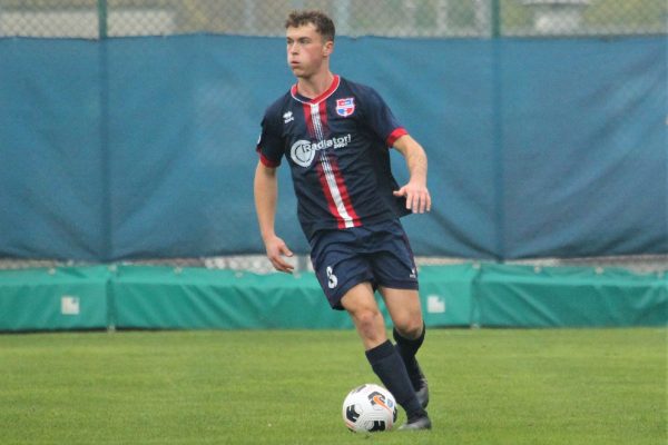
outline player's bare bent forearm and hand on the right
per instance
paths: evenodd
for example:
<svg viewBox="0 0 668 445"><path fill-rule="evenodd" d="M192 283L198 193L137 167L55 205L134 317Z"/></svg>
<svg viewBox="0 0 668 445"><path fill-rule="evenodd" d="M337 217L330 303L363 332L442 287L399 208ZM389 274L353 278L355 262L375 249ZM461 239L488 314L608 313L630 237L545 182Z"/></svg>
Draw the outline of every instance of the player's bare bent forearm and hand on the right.
<svg viewBox="0 0 668 445"><path fill-rule="evenodd" d="M411 175L409 184L395 190L394 196L405 196L406 208L415 214L430 211L431 196L426 188L426 154L424 149L411 135L403 135L396 139L394 148L405 158Z"/></svg>

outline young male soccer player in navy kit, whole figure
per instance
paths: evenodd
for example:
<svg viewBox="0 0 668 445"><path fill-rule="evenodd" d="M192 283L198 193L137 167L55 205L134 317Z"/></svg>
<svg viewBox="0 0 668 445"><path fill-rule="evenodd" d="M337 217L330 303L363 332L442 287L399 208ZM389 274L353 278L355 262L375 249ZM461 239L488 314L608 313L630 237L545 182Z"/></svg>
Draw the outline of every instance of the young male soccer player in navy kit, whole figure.
<svg viewBox="0 0 668 445"><path fill-rule="evenodd" d="M372 88L330 71L334 23L320 11L286 21L287 63L296 85L267 109L257 144L255 207L267 257L292 273L292 251L274 231L276 168L285 157L317 279L334 309L345 309L366 357L406 411L404 429L429 429L426 379L415 360L424 339L418 276L399 217L429 211L426 155ZM390 148L405 158L410 180L399 187ZM386 336L374 290L394 324Z"/></svg>

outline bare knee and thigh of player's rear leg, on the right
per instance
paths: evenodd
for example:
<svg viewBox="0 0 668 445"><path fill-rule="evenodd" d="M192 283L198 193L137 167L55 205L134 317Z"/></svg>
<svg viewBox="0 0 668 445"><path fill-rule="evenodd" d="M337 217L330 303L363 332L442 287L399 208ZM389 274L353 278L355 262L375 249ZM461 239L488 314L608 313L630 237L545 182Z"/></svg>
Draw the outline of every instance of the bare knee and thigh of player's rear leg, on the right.
<svg viewBox="0 0 668 445"><path fill-rule="evenodd" d="M416 338L423 326L420 294L416 289L379 288L394 327L405 337Z"/></svg>

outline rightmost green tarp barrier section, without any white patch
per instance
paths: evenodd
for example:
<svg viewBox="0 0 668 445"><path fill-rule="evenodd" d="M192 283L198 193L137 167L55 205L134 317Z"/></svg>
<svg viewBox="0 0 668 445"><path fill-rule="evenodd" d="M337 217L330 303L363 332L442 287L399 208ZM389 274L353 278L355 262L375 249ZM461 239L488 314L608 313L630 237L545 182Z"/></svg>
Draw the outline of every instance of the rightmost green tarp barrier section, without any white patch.
<svg viewBox="0 0 668 445"><path fill-rule="evenodd" d="M665 274L488 265L479 283L481 326L661 326L668 318Z"/></svg>

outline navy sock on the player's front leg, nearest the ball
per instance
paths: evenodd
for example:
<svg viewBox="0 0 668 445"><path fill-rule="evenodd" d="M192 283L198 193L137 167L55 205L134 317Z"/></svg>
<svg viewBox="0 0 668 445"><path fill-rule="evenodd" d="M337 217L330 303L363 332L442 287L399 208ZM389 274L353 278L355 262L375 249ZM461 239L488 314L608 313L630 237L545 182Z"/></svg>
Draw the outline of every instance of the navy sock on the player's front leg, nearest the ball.
<svg viewBox="0 0 668 445"><path fill-rule="evenodd" d="M406 411L409 422L425 415L425 411L415 397L406 368L390 340L369 349L366 358L396 403Z"/></svg>

